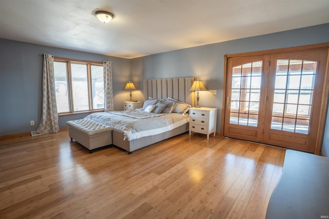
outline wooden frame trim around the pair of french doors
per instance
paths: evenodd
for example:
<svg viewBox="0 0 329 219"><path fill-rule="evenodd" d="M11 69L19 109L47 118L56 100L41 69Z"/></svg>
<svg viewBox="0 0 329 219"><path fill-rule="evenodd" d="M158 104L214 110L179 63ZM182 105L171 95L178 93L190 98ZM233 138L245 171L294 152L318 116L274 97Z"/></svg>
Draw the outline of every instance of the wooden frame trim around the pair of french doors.
<svg viewBox="0 0 329 219"><path fill-rule="evenodd" d="M228 71L227 65L228 65L229 58L257 56L257 55L271 55L271 54L283 53L283 52L307 51L307 50L314 50L314 49L327 49L327 51L328 51L327 60L326 60L326 68L325 68L325 72L324 72L325 75L324 75L324 82L323 82L323 91L322 91L322 96L321 96L321 108L319 110L319 121L320 121L318 124L319 132L317 134L316 143L315 143L316 144L315 154L319 155L320 150L321 150L321 145L322 145L325 117L326 117L327 105L328 105L328 95L329 95L329 43L224 55L221 135L222 136L224 135L225 111L226 111L226 107L227 107L226 106L226 98L227 98L226 82L227 82L227 71Z"/></svg>

